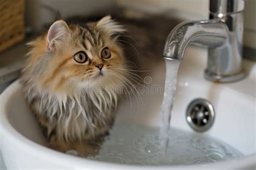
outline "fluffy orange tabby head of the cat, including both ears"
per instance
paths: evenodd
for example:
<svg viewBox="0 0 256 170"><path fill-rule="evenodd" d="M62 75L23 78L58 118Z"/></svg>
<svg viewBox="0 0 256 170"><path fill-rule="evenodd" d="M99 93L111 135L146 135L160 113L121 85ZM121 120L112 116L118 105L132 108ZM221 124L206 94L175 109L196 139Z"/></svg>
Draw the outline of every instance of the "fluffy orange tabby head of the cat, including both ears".
<svg viewBox="0 0 256 170"><path fill-rule="evenodd" d="M117 36L124 31L110 16L83 26L56 21L30 43L24 74L29 72L40 88L60 92L120 84L125 59Z"/></svg>

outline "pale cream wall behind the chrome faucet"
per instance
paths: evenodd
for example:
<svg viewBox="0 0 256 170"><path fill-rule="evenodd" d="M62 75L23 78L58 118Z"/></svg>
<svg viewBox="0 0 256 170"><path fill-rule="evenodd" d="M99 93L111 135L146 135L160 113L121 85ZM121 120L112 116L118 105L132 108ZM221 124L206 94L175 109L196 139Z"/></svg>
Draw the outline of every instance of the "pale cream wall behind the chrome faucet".
<svg viewBox="0 0 256 170"><path fill-rule="evenodd" d="M186 20L207 19L210 0L116 0L119 6ZM244 44L256 49L256 0L245 1Z"/></svg>

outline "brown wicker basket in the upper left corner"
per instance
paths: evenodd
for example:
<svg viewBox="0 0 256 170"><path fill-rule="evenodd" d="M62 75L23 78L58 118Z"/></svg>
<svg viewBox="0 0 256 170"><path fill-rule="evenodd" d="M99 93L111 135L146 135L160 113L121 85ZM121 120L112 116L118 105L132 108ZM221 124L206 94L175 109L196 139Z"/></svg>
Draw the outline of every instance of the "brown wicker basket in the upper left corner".
<svg viewBox="0 0 256 170"><path fill-rule="evenodd" d="M0 51L25 37L24 0L0 0Z"/></svg>

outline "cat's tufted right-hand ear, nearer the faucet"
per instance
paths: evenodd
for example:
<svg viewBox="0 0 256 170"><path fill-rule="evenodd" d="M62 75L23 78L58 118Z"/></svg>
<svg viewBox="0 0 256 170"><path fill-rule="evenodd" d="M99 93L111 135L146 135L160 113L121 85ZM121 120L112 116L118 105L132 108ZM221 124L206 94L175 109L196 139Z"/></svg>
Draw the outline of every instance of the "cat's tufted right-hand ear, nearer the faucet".
<svg viewBox="0 0 256 170"><path fill-rule="evenodd" d="M126 31L124 29L124 26L119 25L117 22L111 19L111 16L109 15L100 19L96 23L96 28L104 30L110 36L119 35L120 33L123 33Z"/></svg>

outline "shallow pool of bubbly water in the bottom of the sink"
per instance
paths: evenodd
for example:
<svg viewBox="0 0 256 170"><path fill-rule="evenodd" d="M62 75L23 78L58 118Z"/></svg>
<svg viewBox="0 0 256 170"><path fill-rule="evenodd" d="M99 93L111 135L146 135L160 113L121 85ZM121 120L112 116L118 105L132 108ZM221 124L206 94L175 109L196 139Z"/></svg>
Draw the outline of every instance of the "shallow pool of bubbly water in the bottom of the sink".
<svg viewBox="0 0 256 170"><path fill-rule="evenodd" d="M92 143L90 153L66 153L86 159L132 165L208 164L242 157L232 146L203 134L171 129L165 161L161 157L159 128L136 124L114 125L101 142ZM97 147L96 147L97 146Z"/></svg>

